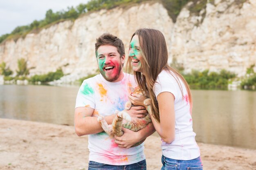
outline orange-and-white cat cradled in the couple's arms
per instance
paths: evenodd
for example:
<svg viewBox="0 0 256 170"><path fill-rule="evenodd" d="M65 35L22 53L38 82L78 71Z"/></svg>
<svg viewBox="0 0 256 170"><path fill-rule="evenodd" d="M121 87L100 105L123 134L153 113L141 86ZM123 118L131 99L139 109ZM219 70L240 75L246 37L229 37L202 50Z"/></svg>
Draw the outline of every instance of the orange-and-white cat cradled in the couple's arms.
<svg viewBox="0 0 256 170"><path fill-rule="evenodd" d="M136 87L136 88L130 87L130 91L132 93L145 96L145 94L138 87ZM151 99L149 99L149 98L145 99L144 104L146 106L149 106L151 104ZM133 105L132 102L130 102L130 101L126 102L125 109L129 110L132 105ZM150 109L148 110L148 112L150 112ZM128 113L126 113L125 111L119 112L118 110L115 111L115 114L116 114L116 116L113 119L111 125L107 124L106 120L104 119L104 117L102 115L99 115L99 117L98 117L98 121L101 124L101 127L111 137L114 137L115 135L122 136L124 134L124 132L122 131L122 126L124 128L128 128L132 131L137 132L140 129L145 128L147 126L147 124L151 122L151 119L150 119L151 114L146 115L146 117L144 117L144 118L137 118L137 117L131 118L130 115ZM123 120L125 120L125 121L123 121ZM145 140L146 139L139 141L132 147L140 145Z"/></svg>

